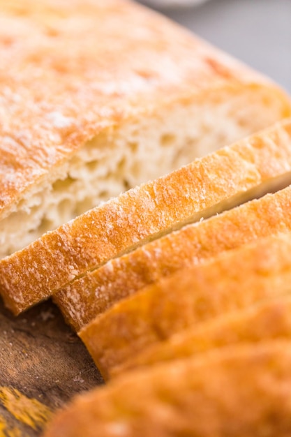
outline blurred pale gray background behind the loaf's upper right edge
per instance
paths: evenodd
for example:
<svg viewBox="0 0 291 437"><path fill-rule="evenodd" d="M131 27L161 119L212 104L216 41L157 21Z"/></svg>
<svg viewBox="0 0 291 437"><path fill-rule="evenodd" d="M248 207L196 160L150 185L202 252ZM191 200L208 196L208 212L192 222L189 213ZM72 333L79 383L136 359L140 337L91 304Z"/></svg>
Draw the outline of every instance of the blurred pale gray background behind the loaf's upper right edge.
<svg viewBox="0 0 291 437"><path fill-rule="evenodd" d="M291 0L209 0L157 10L291 93Z"/></svg>

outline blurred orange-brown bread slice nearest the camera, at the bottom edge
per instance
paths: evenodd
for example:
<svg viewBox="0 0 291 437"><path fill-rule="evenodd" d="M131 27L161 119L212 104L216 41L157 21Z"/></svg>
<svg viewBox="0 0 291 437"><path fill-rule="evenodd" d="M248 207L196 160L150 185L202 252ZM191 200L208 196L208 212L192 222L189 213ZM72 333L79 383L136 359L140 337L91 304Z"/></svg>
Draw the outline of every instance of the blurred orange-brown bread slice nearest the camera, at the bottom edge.
<svg viewBox="0 0 291 437"><path fill-rule="evenodd" d="M133 371L77 397L44 437L288 437L291 342L239 345Z"/></svg>

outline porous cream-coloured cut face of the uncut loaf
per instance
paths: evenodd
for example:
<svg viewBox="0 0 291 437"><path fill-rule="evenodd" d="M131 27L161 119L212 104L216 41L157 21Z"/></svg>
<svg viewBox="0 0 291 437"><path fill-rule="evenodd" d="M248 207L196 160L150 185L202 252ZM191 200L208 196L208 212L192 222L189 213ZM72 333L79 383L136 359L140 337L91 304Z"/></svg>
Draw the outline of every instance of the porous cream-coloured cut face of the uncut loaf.
<svg viewBox="0 0 291 437"><path fill-rule="evenodd" d="M105 129L2 214L0 258L119 193L165 175L280 118L266 88L213 90ZM196 102L198 101L198 103ZM278 106L278 107L277 107ZM52 124L66 126L55 112Z"/></svg>

